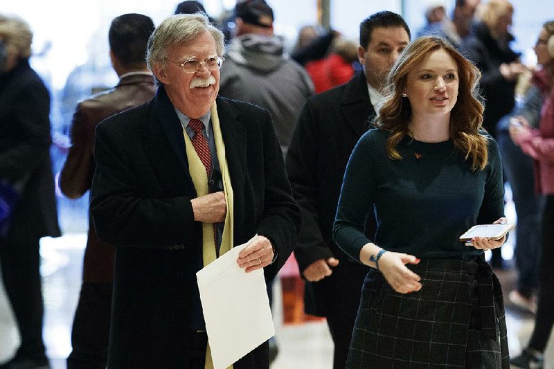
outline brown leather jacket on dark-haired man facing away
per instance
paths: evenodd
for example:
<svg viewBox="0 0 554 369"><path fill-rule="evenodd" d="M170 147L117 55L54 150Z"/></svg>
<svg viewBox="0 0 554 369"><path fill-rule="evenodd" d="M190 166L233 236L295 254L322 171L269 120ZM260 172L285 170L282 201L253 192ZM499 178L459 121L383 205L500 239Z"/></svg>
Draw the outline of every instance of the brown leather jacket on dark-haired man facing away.
<svg viewBox="0 0 554 369"><path fill-rule="evenodd" d="M119 111L144 104L154 97L156 87L152 75L134 74L122 78L116 87L80 102L73 115L71 142L60 188L64 195L76 199L91 188L94 174L94 129L100 121ZM89 219L89 237L84 250L83 282L114 280L115 248L98 240Z"/></svg>

